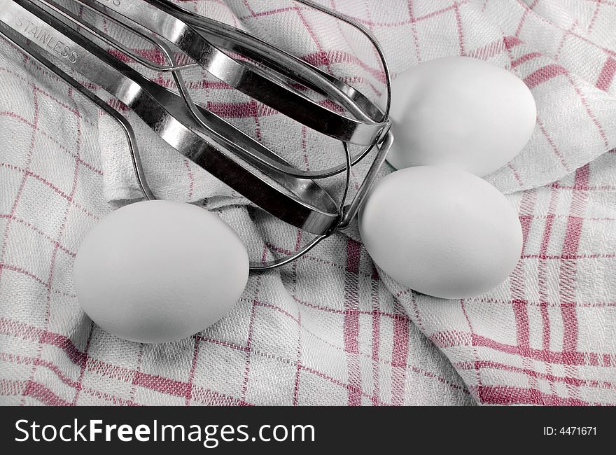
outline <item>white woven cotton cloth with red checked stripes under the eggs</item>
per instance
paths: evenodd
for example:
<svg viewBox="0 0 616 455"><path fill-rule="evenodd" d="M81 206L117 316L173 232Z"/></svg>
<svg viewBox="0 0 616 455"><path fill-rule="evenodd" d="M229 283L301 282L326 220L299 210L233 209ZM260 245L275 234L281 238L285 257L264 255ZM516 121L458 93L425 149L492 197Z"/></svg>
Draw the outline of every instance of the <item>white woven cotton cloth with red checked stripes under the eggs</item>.
<svg viewBox="0 0 616 455"><path fill-rule="evenodd" d="M71 269L87 231L140 197L125 141L90 102L1 41L0 402L616 403L616 4L323 3L376 34L394 76L468 55L531 88L535 133L487 178L508 195L524 230L510 278L468 300L416 295L374 266L351 226L293 265L251 276L231 313L194 337L161 345L113 337L78 307ZM356 32L290 1L181 6L283 45L373 99L383 90L374 52ZM335 142L203 71L186 79L198 102L295 165L319 169L342 159ZM126 114L159 197L215 211L253 257L305 244L307 235L248 210L244 198ZM353 172L353 190L363 172L365 165Z"/></svg>

